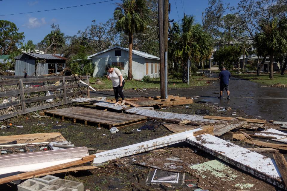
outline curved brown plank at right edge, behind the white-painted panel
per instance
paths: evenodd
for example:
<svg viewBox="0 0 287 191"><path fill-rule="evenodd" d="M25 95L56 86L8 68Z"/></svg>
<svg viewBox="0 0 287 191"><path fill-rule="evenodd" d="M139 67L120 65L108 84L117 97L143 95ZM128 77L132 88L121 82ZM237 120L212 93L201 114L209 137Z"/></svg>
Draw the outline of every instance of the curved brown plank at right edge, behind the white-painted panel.
<svg viewBox="0 0 287 191"><path fill-rule="evenodd" d="M267 147L267 148L273 148L273 149L279 149L279 150L287 150L287 144L276 144L276 143L268 143L264 141L257 141L257 140L249 140L245 137L243 134L234 134L233 138L248 144L254 144L259 147Z"/></svg>

